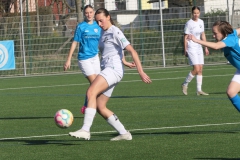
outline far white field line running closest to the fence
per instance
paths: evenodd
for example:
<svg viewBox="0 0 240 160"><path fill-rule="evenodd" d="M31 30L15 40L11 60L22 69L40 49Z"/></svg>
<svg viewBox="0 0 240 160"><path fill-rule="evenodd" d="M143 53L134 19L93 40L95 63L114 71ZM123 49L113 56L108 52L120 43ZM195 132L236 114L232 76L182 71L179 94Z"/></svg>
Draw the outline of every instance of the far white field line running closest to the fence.
<svg viewBox="0 0 240 160"><path fill-rule="evenodd" d="M211 75L211 76L204 76L206 77L225 77L225 76L233 76L233 74L225 74L225 75ZM160 78L160 79L151 79L152 81L164 81L169 79L184 79L186 77L174 77L174 78ZM131 82L142 82L141 79L138 80L130 80L130 81L121 81L120 83L131 83ZM52 86L36 86L36 87L19 87L19 88L2 88L0 91L4 90L17 90L17 89L34 89L34 88L50 88L50 87L69 87L69 86L83 86L89 85L89 83L82 83L82 84L65 84L65 85L52 85Z"/></svg>

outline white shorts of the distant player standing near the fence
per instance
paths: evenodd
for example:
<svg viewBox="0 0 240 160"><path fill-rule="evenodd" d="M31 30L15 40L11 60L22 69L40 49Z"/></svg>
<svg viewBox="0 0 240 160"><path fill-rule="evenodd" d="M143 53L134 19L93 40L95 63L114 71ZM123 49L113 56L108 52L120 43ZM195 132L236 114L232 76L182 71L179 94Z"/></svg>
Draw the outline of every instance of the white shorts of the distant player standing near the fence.
<svg viewBox="0 0 240 160"><path fill-rule="evenodd" d="M203 50L191 50L189 49L187 51L188 53L188 62L191 66L197 65L197 64L204 64L204 56L203 56Z"/></svg>

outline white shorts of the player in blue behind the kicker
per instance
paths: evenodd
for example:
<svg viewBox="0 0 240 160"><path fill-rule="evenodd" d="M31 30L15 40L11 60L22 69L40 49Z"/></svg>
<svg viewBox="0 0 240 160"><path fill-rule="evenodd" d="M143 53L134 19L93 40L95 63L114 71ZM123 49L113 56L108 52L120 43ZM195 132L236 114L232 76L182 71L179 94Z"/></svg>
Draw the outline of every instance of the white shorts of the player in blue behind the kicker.
<svg viewBox="0 0 240 160"><path fill-rule="evenodd" d="M79 60L78 67L80 68L80 70L82 71L85 77L88 77L94 74L98 75L101 70L98 54L89 59Z"/></svg>

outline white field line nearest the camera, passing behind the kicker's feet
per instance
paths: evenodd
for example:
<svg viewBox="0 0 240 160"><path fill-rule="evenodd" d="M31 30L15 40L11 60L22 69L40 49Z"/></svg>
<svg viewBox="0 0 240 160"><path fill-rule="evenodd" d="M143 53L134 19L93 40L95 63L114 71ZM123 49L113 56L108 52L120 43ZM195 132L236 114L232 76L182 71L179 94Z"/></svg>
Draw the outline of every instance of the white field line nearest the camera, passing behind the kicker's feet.
<svg viewBox="0 0 240 160"><path fill-rule="evenodd" d="M210 127L210 126L223 126L223 125L238 125L240 122L235 123L219 123L219 124L199 124L190 126L173 126L173 127L160 127L160 128L143 128L143 129L131 129L129 131L147 131L147 130L164 130L164 129L179 129L179 128L197 128L197 127ZM91 132L91 134L102 133L114 133L116 131L103 131L103 132ZM4 140L16 140L16 139L31 139L31 138L43 138L43 137L61 137L68 134L55 134L55 135L41 135L41 136L29 136L29 137L12 137L12 138L0 138L0 141Z"/></svg>

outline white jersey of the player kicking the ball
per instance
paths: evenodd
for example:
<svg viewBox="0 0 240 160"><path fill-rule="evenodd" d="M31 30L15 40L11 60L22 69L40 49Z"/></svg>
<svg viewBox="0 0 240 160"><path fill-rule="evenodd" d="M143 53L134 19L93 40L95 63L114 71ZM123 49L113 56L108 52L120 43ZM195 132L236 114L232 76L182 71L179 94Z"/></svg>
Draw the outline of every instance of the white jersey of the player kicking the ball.
<svg viewBox="0 0 240 160"><path fill-rule="evenodd" d="M106 67L111 67L123 72L123 49L129 44L129 41L122 31L114 25L108 30L102 31L99 41L101 68L105 69Z"/></svg>

